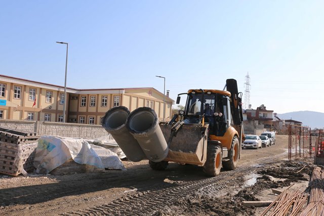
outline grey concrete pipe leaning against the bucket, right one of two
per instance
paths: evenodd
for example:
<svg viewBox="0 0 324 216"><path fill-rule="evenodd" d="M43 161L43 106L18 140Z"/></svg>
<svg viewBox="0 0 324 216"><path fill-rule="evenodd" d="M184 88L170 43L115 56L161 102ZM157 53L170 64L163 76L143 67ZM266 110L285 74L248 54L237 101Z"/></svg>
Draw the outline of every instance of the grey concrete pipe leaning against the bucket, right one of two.
<svg viewBox="0 0 324 216"><path fill-rule="evenodd" d="M142 147L147 159L163 161L169 148L158 125L157 115L149 107L140 107L127 117L126 126Z"/></svg>

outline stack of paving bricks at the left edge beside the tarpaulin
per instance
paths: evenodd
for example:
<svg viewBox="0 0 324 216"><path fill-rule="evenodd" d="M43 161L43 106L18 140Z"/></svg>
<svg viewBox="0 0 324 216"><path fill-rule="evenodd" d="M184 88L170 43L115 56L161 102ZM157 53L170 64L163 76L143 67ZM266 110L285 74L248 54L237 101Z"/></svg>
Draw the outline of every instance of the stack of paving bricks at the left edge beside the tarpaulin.
<svg viewBox="0 0 324 216"><path fill-rule="evenodd" d="M0 173L18 176L33 169L38 138L34 132L0 127Z"/></svg>

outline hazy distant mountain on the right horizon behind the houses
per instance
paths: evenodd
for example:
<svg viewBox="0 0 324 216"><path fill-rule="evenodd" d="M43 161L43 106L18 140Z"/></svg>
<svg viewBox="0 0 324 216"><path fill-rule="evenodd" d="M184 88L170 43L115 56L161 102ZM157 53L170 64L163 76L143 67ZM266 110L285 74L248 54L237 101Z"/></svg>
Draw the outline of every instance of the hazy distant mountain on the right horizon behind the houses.
<svg viewBox="0 0 324 216"><path fill-rule="evenodd" d="M303 122L303 126L324 128L324 113L313 111L298 111L277 114L281 120L292 119Z"/></svg>

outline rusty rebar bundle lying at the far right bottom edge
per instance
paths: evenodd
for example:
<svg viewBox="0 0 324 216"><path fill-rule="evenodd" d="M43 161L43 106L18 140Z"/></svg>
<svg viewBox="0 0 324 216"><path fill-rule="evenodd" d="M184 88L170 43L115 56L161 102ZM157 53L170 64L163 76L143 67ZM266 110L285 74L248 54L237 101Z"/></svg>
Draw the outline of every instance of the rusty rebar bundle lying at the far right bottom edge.
<svg viewBox="0 0 324 216"><path fill-rule="evenodd" d="M308 205L300 216L324 215L324 171L320 167L316 166L313 169L309 186L310 196Z"/></svg>

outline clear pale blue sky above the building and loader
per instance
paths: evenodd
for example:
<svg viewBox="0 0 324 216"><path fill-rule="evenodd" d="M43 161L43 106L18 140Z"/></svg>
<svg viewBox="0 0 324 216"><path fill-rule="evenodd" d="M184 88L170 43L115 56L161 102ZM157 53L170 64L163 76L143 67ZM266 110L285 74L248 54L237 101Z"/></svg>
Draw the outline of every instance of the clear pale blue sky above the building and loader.
<svg viewBox="0 0 324 216"><path fill-rule="evenodd" d="M0 73L90 88L243 92L252 108L324 112L323 1L2 1ZM243 98L244 100L244 98ZM184 101L184 100L183 100Z"/></svg>

